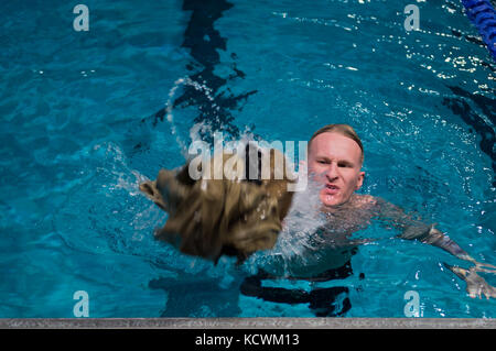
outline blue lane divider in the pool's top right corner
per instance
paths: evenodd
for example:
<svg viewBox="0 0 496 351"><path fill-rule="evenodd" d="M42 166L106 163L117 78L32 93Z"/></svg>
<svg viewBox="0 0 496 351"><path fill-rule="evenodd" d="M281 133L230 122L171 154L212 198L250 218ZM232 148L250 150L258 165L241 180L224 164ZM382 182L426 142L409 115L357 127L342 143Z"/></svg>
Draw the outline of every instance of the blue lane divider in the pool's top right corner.
<svg viewBox="0 0 496 351"><path fill-rule="evenodd" d="M496 62L496 11L489 0L462 0L462 3Z"/></svg>

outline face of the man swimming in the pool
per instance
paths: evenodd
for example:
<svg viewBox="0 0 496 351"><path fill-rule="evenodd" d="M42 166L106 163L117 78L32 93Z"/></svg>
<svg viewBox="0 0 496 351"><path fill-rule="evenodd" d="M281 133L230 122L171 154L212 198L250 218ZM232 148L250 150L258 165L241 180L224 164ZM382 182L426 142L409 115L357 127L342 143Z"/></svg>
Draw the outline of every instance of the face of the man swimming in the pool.
<svg viewBox="0 0 496 351"><path fill-rule="evenodd" d="M320 198L325 207L339 206L349 200L364 183L362 150L347 136L325 132L312 140L309 150L309 172L324 187Z"/></svg>

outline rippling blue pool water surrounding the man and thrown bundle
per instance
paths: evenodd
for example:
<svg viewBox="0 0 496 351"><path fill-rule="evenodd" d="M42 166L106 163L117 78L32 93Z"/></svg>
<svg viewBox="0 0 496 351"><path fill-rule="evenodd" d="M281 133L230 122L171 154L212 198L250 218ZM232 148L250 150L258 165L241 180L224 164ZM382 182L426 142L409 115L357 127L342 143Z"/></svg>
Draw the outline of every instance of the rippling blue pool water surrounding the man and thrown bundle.
<svg viewBox="0 0 496 351"><path fill-rule="evenodd" d="M76 32L76 3L3 1L0 317L74 317L78 290L89 317L314 316L240 295L257 260L214 266L153 240L166 216L138 184L184 162L195 123L268 141L349 123L362 194L496 264L496 66L461 3L411 2L420 28L407 32L409 1L88 0ZM328 285L348 288L346 317L405 317L409 290L423 317L496 317L442 262L470 266L384 239Z"/></svg>

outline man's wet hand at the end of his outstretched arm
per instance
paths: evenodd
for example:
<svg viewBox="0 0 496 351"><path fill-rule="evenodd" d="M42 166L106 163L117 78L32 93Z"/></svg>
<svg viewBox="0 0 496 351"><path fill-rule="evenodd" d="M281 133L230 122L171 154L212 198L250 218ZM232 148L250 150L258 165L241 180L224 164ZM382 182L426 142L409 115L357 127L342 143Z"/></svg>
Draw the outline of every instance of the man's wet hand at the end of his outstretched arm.
<svg viewBox="0 0 496 351"><path fill-rule="evenodd" d="M486 272L496 274L496 271L482 268L482 266L494 267L493 265L482 264L477 262L477 265L470 270L452 266L446 263L444 263L444 266L466 282L466 292L468 293L470 297L482 298L482 295L484 294L487 299L489 299L489 297L496 298L496 288L487 284L487 282L476 273L476 272Z"/></svg>

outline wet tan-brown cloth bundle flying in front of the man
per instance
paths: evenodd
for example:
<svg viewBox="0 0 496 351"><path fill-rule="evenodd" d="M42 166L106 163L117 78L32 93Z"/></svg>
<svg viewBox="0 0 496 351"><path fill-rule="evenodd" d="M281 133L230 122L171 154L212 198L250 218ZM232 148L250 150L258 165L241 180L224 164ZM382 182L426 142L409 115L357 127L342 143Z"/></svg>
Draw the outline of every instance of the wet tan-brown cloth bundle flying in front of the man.
<svg viewBox="0 0 496 351"><path fill-rule="evenodd" d="M293 193L288 191L288 185L293 180L287 176L282 154L273 149L265 152L270 154L270 179L260 177L261 150L258 150L258 157L249 157L248 152L244 158L223 153L207 161L214 173L215 167L219 171L219 166L230 162L244 177L228 179L222 173L220 179L202 175L194 180L188 162L179 171L161 169L157 180L140 184L140 190L169 213L165 226L155 231L155 238L183 253L215 263L223 254L237 256L241 263L258 250L271 249L291 206ZM276 155L283 161L281 179L274 179ZM223 162L215 162L216 157ZM248 171L257 166L255 161L259 172L254 180ZM202 167L200 163L198 169Z"/></svg>

